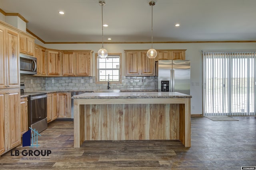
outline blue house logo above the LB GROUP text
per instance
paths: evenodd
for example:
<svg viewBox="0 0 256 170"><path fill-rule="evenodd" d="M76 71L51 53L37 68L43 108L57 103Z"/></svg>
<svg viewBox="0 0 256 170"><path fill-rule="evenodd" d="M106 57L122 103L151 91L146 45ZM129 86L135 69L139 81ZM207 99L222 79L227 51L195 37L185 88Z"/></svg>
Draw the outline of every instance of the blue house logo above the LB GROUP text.
<svg viewBox="0 0 256 170"><path fill-rule="evenodd" d="M38 135L41 136L36 129L29 127L29 130L22 135L22 147L31 146L39 147L38 145ZM32 136L32 139L31 139Z"/></svg>

